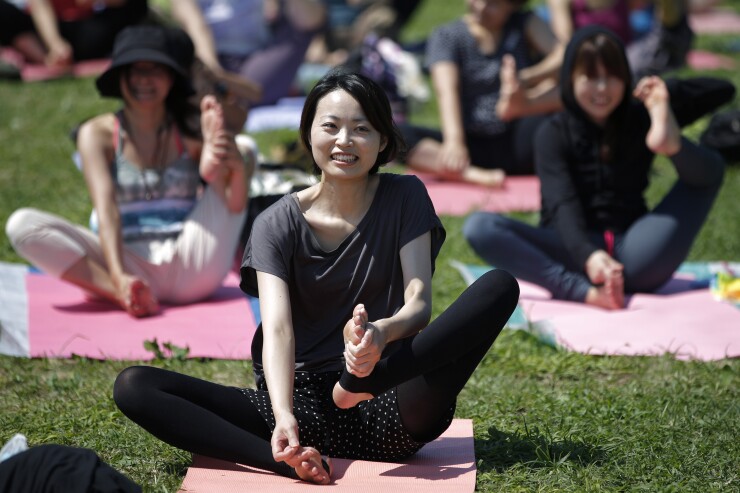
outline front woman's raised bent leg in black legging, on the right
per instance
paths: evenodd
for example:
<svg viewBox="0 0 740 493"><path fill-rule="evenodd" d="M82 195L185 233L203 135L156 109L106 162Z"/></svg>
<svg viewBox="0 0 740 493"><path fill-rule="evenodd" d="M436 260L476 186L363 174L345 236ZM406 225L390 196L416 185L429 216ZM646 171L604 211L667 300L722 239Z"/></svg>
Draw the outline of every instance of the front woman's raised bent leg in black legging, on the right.
<svg viewBox="0 0 740 493"><path fill-rule="evenodd" d="M487 272L418 335L375 365L363 378L346 368L334 387L338 407L398 387L401 419L417 439L438 430L478 363L488 352L519 299L507 272Z"/></svg>

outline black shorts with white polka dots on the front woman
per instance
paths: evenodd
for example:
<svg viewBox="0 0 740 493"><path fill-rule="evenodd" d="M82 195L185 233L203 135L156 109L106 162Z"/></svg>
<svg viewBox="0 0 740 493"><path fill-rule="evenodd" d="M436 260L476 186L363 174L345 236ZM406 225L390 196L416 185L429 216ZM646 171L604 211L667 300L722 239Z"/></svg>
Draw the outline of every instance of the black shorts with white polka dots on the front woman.
<svg viewBox="0 0 740 493"><path fill-rule="evenodd" d="M336 407L332 389L340 375L338 371L296 372L293 413L302 445L329 457L385 462L405 459L424 446L426 442L414 440L401 424L395 388L351 409ZM240 390L274 430L275 416L267 387L263 378L257 382L257 389ZM447 417L450 423L453 415L451 408Z"/></svg>

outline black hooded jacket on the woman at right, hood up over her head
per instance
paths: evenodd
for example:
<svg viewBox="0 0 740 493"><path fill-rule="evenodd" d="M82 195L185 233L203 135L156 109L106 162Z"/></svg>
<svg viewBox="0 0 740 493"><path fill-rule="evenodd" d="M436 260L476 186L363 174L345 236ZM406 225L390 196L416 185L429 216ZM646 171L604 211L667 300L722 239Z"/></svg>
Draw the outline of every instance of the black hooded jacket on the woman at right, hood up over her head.
<svg viewBox="0 0 740 493"><path fill-rule="evenodd" d="M586 38L609 30L587 26L576 31L565 51L561 70L561 97L565 111L550 117L535 139L535 167L541 181L541 226L553 227L577 265L584 266L598 249L589 232L621 233L647 212L644 192L655 157L645 145L650 116L632 97L632 81L625 98L609 119L616 125L612 158L601 156L605 130L593 123L576 103L570 83L575 55ZM730 101L735 87L706 77L666 80L671 108L679 126L688 125Z"/></svg>

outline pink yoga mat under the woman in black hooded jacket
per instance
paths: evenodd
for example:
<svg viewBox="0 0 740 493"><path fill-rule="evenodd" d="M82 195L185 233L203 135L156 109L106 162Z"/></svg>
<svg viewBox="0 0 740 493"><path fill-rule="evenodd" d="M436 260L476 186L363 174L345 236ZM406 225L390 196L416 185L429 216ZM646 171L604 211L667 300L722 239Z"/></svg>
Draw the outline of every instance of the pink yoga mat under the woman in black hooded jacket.
<svg viewBox="0 0 740 493"><path fill-rule="evenodd" d="M740 310L692 290L674 277L655 294L635 294L624 310L551 300L544 289L519 281L519 304L533 330L558 346L586 354L719 360L740 356Z"/></svg>

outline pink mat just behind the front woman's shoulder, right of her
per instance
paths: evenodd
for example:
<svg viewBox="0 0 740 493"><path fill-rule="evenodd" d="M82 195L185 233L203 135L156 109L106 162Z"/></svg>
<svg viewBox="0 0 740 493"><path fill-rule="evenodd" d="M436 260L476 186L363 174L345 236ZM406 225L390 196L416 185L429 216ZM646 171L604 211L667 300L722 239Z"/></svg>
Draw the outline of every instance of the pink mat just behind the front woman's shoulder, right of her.
<svg viewBox="0 0 740 493"><path fill-rule="evenodd" d="M473 211L512 212L540 209L540 181L536 176L510 176L500 189L444 181L414 173L427 187L437 214L464 216Z"/></svg>

